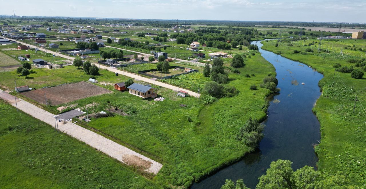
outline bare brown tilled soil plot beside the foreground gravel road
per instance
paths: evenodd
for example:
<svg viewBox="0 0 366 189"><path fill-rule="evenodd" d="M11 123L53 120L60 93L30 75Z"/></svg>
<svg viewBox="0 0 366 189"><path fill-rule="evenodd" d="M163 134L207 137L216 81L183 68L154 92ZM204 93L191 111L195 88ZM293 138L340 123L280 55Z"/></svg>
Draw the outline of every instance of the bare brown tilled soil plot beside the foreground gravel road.
<svg viewBox="0 0 366 189"><path fill-rule="evenodd" d="M22 92L24 96L41 104L46 104L45 101L50 99L52 105L68 103L74 100L84 99L86 97L97 96L105 93L112 93L112 91L83 81L73 84Z"/></svg>

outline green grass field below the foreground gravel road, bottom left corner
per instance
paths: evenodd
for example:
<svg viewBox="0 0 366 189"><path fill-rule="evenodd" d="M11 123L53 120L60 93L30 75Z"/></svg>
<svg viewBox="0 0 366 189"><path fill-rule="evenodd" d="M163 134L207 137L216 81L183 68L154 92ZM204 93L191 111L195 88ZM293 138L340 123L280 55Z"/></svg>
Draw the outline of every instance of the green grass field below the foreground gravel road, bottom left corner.
<svg viewBox="0 0 366 189"><path fill-rule="evenodd" d="M0 100L1 188L160 188Z"/></svg>

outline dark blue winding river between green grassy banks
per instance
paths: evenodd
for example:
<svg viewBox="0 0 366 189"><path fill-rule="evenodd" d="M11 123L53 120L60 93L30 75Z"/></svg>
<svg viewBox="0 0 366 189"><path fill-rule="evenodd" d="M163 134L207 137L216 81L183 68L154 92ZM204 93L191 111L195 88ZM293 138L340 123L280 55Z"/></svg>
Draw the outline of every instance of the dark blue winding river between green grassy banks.
<svg viewBox="0 0 366 189"><path fill-rule="evenodd" d="M251 44L263 46L261 41ZM225 179L243 179L255 188L258 177L265 174L272 161L290 160L294 170L305 165L315 167L318 161L313 144L320 140L320 123L311 109L320 97L318 82L323 75L306 66L273 52L259 49L262 56L276 68L281 92L270 99L268 119L264 122L264 138L259 149L239 162L194 183L191 189L221 188ZM298 83L298 84L297 84ZM305 83L302 85L301 83Z"/></svg>

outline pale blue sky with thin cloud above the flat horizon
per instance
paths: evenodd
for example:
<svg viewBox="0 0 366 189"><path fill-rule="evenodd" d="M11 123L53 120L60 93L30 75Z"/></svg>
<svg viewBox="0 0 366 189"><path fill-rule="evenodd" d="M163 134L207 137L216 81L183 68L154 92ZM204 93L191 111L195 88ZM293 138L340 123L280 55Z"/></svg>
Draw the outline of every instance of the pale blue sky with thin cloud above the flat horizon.
<svg viewBox="0 0 366 189"><path fill-rule="evenodd" d="M366 22L366 0L0 0L0 14L140 19ZM7 8L4 8L7 7Z"/></svg>

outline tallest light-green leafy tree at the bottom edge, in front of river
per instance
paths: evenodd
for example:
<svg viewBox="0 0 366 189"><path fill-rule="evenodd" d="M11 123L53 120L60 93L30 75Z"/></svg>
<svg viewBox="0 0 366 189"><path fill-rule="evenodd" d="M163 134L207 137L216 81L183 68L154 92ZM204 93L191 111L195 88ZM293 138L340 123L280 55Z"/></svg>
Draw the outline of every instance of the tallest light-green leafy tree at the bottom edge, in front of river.
<svg viewBox="0 0 366 189"><path fill-rule="evenodd" d="M277 160L270 164L266 174L259 177L256 188L295 188L294 171L289 160Z"/></svg>

